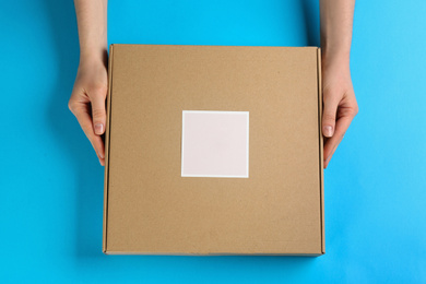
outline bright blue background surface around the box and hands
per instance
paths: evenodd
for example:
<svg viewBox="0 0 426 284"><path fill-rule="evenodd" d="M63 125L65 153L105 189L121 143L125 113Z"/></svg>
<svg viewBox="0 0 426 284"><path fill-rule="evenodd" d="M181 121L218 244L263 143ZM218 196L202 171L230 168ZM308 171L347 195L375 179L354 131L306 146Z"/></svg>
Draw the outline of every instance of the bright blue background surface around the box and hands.
<svg viewBox="0 0 426 284"><path fill-rule="evenodd" d="M426 283L426 2L358 1L359 104L326 170L320 258L102 252L103 167L68 99L72 1L0 4L0 283ZM315 0L113 1L109 43L319 45Z"/></svg>

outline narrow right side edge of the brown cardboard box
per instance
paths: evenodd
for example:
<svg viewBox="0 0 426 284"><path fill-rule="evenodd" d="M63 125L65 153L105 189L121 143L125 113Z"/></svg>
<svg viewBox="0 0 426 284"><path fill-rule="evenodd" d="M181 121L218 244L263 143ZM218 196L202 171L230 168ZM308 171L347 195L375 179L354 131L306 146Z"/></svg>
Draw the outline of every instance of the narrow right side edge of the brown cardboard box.
<svg viewBox="0 0 426 284"><path fill-rule="evenodd" d="M324 158L322 138L322 74L321 74L321 48L317 50L318 67L318 133L320 153L320 212L321 212L321 252L326 253L326 227L324 227Z"/></svg>

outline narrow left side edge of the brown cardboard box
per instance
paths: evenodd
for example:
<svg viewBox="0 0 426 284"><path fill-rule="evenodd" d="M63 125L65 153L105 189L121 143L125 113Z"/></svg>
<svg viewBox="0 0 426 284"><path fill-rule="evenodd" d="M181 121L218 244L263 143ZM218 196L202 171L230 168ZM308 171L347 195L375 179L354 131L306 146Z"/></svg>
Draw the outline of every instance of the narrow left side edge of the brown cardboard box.
<svg viewBox="0 0 426 284"><path fill-rule="evenodd" d="M113 56L114 45L109 46L108 58L108 94L107 94L107 120L105 127L105 171L104 171L104 228L103 228L103 252L107 255L107 230L108 230L108 181L109 181L109 132L111 117L111 90L113 90Z"/></svg>

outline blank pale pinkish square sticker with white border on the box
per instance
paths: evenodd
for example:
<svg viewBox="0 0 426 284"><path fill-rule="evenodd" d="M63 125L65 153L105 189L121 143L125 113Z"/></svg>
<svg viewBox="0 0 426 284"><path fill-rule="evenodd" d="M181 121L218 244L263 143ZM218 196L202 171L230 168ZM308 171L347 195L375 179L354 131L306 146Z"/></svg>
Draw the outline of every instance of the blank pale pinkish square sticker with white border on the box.
<svg viewBox="0 0 426 284"><path fill-rule="evenodd" d="M248 170L249 111L182 111L182 177L248 178Z"/></svg>

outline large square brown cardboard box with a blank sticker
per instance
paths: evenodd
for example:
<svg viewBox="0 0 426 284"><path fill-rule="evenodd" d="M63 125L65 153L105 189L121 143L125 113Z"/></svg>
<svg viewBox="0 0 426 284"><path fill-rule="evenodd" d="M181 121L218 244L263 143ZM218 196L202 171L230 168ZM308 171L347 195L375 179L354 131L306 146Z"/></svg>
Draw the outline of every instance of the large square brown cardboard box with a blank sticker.
<svg viewBox="0 0 426 284"><path fill-rule="evenodd" d="M319 48L109 52L105 253L324 253Z"/></svg>

